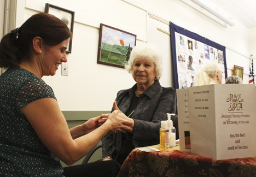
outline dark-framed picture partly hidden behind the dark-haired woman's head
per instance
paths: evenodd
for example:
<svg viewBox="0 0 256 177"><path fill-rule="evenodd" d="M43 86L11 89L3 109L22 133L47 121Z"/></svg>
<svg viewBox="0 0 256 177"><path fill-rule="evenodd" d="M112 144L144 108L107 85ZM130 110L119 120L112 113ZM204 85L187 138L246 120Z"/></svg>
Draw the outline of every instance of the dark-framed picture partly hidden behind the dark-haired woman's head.
<svg viewBox="0 0 256 177"><path fill-rule="evenodd" d="M45 13L52 14L59 19L61 19L63 22L66 23L68 26L69 30L73 33L73 28L74 28L74 11L67 10L64 8L61 8L56 5L52 5L49 3L45 4ZM72 49L72 38L69 40L68 48L66 50L66 54L71 54L71 49Z"/></svg>

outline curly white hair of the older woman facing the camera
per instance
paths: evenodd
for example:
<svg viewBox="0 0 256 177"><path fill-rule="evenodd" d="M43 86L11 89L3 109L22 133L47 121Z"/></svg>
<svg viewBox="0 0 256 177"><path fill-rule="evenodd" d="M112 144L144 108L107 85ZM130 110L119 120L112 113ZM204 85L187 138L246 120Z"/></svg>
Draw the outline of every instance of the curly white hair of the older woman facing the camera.
<svg viewBox="0 0 256 177"><path fill-rule="evenodd" d="M125 69L132 74L132 68L135 60L144 59L152 61L155 64L156 79L160 79L162 75L162 56L158 48L153 44L136 45L130 55Z"/></svg>

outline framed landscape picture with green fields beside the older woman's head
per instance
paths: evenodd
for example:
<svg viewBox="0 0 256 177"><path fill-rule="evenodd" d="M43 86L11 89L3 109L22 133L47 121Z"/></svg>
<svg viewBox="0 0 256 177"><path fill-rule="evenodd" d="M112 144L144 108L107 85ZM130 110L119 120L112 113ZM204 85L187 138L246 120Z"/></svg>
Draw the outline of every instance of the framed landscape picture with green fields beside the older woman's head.
<svg viewBox="0 0 256 177"><path fill-rule="evenodd" d="M135 45L135 34L101 23L97 63L124 68Z"/></svg>

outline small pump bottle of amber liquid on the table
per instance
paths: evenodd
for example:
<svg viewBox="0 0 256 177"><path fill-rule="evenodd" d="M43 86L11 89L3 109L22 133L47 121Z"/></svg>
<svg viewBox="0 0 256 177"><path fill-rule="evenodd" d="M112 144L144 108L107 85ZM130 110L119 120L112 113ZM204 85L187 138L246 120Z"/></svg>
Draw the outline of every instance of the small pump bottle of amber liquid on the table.
<svg viewBox="0 0 256 177"><path fill-rule="evenodd" d="M168 149L169 141L169 128L167 127L167 121L161 121L161 128L160 128L160 149Z"/></svg>

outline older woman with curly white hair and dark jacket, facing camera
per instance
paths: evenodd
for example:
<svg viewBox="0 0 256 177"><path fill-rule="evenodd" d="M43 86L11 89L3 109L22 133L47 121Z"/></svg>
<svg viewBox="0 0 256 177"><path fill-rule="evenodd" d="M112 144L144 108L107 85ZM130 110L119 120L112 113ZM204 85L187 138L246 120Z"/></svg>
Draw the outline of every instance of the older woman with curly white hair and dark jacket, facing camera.
<svg viewBox="0 0 256 177"><path fill-rule="evenodd" d="M135 147L159 144L161 120L166 113L176 113L176 93L172 87L161 87L161 55L154 45L136 45L126 69L136 84L117 93L117 106L132 131L108 133L102 139L103 161L117 160L123 164ZM178 130L178 127L176 127Z"/></svg>

